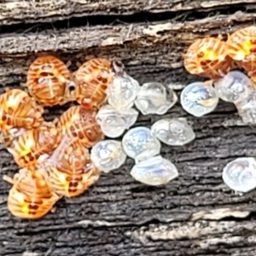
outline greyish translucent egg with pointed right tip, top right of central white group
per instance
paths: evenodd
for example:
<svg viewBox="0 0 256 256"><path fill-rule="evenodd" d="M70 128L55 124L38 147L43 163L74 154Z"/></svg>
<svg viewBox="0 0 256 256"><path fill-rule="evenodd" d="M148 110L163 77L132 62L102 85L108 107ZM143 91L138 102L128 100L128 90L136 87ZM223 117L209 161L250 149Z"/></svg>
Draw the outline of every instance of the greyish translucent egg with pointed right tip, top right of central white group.
<svg viewBox="0 0 256 256"><path fill-rule="evenodd" d="M177 95L160 83L143 84L135 101L136 108L144 115L150 113L164 114L177 102Z"/></svg>

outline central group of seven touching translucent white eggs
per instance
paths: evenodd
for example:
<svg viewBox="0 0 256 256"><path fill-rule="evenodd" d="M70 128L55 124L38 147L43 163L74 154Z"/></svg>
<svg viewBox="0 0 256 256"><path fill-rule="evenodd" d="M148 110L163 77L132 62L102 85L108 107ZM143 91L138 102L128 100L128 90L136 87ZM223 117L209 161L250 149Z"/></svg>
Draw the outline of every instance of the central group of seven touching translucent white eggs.
<svg viewBox="0 0 256 256"><path fill-rule="evenodd" d="M159 119L151 129L131 126L136 123L139 112L160 116L176 102L176 93L163 84L151 82L140 86L128 74L115 79L108 89L108 104L96 115L102 132L109 139L96 143L91 149L91 160L102 172L111 172L122 166L129 156L135 161L131 176L137 181L154 186L170 182L178 176L177 167L160 156L160 142L183 146L194 140L195 133L187 120Z"/></svg>

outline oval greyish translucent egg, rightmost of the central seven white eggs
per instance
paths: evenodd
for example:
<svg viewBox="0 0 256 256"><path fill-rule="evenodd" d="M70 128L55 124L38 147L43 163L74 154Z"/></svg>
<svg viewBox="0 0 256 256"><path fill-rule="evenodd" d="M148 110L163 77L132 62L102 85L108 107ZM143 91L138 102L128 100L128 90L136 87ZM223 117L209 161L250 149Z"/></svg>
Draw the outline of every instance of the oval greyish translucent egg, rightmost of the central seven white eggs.
<svg viewBox="0 0 256 256"><path fill-rule="evenodd" d="M170 146L183 146L195 139L195 132L185 118L160 119L152 125L151 131Z"/></svg>

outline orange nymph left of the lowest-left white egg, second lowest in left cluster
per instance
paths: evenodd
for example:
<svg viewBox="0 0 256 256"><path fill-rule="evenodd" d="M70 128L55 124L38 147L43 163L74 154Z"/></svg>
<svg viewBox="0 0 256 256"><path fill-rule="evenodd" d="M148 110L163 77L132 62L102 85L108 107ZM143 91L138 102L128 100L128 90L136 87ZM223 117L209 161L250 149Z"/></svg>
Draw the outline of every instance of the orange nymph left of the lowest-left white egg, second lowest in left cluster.
<svg viewBox="0 0 256 256"><path fill-rule="evenodd" d="M93 165L87 148L80 143L60 143L60 148L49 156L46 168L49 183L58 195L73 197L81 195L101 175ZM47 163L47 162L46 162Z"/></svg>

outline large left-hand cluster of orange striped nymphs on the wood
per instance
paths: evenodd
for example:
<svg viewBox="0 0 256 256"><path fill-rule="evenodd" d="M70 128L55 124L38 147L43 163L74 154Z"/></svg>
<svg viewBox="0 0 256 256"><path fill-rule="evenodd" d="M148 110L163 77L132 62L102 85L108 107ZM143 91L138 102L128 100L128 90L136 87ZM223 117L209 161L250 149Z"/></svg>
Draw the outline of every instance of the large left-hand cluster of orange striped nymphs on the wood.
<svg viewBox="0 0 256 256"><path fill-rule="evenodd" d="M41 218L62 196L80 195L95 183L101 170L89 149L104 135L96 122L108 85L120 63L105 59L84 62L75 73L53 55L38 57L27 73L24 90L0 96L2 142L21 167L14 178L8 208L18 218ZM78 102L60 119L46 122L44 107Z"/></svg>

